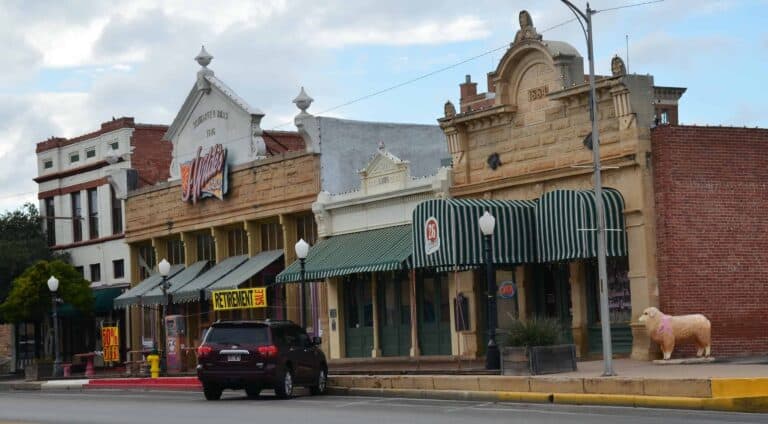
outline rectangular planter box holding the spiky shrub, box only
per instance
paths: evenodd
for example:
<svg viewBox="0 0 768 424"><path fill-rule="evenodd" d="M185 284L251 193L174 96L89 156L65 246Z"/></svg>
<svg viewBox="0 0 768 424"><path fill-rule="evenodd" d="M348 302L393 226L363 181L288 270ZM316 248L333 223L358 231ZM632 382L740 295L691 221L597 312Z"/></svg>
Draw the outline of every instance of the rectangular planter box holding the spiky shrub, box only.
<svg viewBox="0 0 768 424"><path fill-rule="evenodd" d="M505 347L501 355L502 375L538 375L576 371L576 346Z"/></svg>

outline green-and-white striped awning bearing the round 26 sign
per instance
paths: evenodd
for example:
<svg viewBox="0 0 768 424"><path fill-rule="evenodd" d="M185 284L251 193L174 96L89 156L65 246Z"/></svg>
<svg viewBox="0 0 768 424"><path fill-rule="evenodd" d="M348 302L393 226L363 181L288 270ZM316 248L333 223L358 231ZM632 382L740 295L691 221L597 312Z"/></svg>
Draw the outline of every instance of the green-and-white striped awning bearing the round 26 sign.
<svg viewBox="0 0 768 424"><path fill-rule="evenodd" d="M435 199L413 211L413 264L416 268L456 269L485 263L478 220L488 211L496 218L494 264L536 259L534 200ZM430 221L431 224L427 224ZM436 227L436 232L432 231ZM427 237L427 231L432 231Z"/></svg>

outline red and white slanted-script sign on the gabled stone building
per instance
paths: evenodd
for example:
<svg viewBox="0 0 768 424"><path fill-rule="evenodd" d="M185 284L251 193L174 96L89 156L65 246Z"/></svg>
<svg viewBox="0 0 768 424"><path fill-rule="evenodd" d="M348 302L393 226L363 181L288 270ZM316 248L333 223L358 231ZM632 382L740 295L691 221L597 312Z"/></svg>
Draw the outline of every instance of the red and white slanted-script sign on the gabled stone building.
<svg viewBox="0 0 768 424"><path fill-rule="evenodd" d="M197 203L204 197L224 200L227 193L227 149L216 144L200 156L202 150L198 147L195 158L180 166L181 200L185 202Z"/></svg>

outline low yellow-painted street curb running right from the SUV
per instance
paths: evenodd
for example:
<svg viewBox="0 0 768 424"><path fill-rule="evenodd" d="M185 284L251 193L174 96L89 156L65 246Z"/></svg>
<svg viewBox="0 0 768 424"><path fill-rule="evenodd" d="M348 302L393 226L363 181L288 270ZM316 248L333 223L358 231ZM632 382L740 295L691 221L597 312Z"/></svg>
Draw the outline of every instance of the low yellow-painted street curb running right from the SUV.
<svg viewBox="0 0 768 424"><path fill-rule="evenodd" d="M329 387L329 394L404 397L415 399L469 400L483 402L554 403L662 409L696 409L727 412L768 412L768 396L694 398L675 396L608 395L583 393L534 393L500 391L358 389Z"/></svg>

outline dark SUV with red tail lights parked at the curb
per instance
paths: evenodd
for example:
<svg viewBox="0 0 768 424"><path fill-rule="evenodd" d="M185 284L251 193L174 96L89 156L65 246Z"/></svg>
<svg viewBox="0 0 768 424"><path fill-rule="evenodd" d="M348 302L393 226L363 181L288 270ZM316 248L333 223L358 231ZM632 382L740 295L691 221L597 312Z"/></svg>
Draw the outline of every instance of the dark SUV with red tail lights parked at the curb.
<svg viewBox="0 0 768 424"><path fill-rule="evenodd" d="M217 321L197 348L197 378L208 400L224 389L256 397L272 388L285 399L294 386L307 386L323 394L328 365L319 345L291 321Z"/></svg>

